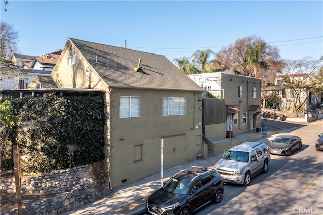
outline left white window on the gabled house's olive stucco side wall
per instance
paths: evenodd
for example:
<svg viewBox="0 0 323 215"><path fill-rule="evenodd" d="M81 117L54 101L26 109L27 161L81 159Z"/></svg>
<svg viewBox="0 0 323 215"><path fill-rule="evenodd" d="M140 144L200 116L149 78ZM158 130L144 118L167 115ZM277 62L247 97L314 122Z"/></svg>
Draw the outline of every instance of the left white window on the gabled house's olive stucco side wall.
<svg viewBox="0 0 323 215"><path fill-rule="evenodd" d="M119 117L140 117L140 97L121 96Z"/></svg>

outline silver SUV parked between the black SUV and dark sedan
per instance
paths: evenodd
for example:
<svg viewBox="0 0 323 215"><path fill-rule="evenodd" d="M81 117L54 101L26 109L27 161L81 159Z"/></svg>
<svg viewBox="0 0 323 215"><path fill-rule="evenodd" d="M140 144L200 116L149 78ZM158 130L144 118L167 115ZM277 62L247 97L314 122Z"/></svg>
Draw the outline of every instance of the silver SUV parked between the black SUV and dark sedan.
<svg viewBox="0 0 323 215"><path fill-rule="evenodd" d="M225 183L249 186L251 177L260 172L268 172L270 159L266 144L244 142L229 149L214 168L223 177Z"/></svg>

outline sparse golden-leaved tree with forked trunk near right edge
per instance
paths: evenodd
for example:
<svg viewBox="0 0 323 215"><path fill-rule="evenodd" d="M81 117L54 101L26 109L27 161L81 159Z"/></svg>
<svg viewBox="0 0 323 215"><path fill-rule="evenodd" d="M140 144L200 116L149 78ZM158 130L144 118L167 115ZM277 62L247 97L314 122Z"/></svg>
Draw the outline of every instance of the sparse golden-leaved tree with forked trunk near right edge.
<svg viewBox="0 0 323 215"><path fill-rule="evenodd" d="M321 96L323 93L323 78L318 76L321 62L305 57L301 60L287 61L286 72L289 74L284 79L284 85L290 90L294 115L304 109L310 95ZM307 78L294 78L295 74L306 74ZM306 111L306 110L305 110Z"/></svg>

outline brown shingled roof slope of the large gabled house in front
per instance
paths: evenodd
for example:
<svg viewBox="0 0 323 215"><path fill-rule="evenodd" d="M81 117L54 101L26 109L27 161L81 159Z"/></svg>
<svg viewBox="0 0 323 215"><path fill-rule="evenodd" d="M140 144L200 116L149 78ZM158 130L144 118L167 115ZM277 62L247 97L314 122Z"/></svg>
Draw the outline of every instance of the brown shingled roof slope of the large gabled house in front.
<svg viewBox="0 0 323 215"><path fill-rule="evenodd" d="M72 38L68 40L109 87L203 91L165 56ZM139 59L142 72L134 70Z"/></svg>

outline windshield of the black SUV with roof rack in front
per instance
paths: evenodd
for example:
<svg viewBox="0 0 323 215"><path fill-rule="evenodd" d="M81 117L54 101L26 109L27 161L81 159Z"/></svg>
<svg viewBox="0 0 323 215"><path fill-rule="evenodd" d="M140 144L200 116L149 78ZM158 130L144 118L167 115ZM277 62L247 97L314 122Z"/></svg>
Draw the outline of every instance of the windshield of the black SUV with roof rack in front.
<svg viewBox="0 0 323 215"><path fill-rule="evenodd" d="M170 193L175 194L186 194L189 189L190 181L179 179L179 178L170 178L163 186L163 189Z"/></svg>

